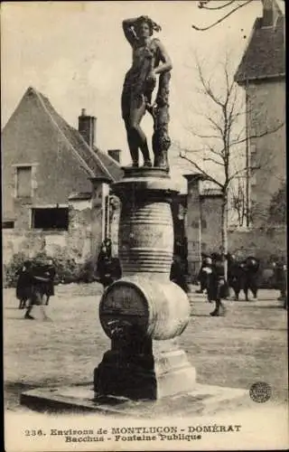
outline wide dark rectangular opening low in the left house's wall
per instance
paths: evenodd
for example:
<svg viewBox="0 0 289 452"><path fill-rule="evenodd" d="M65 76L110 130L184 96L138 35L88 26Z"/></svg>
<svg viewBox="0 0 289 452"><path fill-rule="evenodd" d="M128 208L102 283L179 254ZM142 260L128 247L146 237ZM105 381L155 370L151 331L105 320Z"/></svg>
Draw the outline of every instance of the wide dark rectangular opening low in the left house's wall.
<svg viewBox="0 0 289 452"><path fill-rule="evenodd" d="M68 207L35 208L32 210L32 229L68 231Z"/></svg>

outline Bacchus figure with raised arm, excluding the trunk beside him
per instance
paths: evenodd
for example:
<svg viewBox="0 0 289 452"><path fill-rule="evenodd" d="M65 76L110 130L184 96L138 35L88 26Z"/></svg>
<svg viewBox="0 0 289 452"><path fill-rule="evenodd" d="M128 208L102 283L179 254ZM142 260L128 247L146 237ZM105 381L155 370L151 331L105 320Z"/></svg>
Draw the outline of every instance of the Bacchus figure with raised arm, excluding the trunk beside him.
<svg viewBox="0 0 289 452"><path fill-rule="evenodd" d="M123 30L127 41L133 48L133 64L126 72L122 92L122 117L126 125L127 143L133 161L138 166L138 151L144 157L144 166L152 166L144 131L140 122L145 109L152 108L152 93L156 85L156 76L172 70L172 61L162 42L153 38L154 31L161 27L147 16L123 21Z"/></svg>

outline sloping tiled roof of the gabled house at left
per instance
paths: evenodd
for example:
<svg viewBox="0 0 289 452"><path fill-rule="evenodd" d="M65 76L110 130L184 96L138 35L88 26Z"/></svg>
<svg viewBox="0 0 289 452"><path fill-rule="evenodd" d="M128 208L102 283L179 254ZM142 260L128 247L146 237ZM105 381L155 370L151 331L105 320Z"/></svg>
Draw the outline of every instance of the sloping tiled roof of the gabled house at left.
<svg viewBox="0 0 289 452"><path fill-rule="evenodd" d="M58 127L63 136L70 142L70 145L78 153L79 158L86 164L89 175L99 176L103 175L112 181L117 181L122 177L123 171L120 165L111 158L109 155L101 152L97 147L91 149L86 143L83 137L79 134L79 131L71 127L61 115L52 107L51 102L48 98L42 95L41 92L36 89L28 89L30 92L33 91L40 99L42 107L50 116L55 127Z"/></svg>

